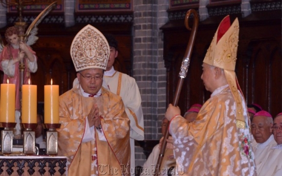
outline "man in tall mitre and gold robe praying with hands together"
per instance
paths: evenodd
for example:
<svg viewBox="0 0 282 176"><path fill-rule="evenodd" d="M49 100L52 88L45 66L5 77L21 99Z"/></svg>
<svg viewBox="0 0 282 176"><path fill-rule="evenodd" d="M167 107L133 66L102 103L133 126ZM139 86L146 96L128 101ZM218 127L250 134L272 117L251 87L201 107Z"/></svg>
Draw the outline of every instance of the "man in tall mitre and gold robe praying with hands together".
<svg viewBox="0 0 282 176"><path fill-rule="evenodd" d="M130 175L130 120L122 98L102 87L110 49L88 24L70 48L78 84L59 98L58 155L68 175Z"/></svg>

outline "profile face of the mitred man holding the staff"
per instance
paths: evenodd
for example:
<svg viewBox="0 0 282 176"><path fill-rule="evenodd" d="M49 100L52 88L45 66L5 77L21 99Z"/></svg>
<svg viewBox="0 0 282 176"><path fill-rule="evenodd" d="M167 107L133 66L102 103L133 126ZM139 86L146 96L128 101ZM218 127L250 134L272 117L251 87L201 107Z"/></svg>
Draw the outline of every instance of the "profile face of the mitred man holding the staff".
<svg viewBox="0 0 282 176"><path fill-rule="evenodd" d="M204 82L205 89L207 91L213 92L214 91L214 88L213 88L214 67L212 67L212 66L210 66L206 63L203 63L202 67L203 67L202 68L203 73L202 73L201 79Z"/></svg>

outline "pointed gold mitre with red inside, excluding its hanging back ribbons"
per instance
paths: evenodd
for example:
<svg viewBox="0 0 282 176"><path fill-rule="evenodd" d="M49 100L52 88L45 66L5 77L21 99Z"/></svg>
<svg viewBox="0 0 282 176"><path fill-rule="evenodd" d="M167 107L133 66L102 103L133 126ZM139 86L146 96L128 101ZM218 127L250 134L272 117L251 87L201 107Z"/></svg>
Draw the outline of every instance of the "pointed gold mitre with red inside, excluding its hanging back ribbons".
<svg viewBox="0 0 282 176"><path fill-rule="evenodd" d="M228 15L220 22L203 62L219 68L234 71L237 59L238 41L238 18L236 18L230 26L230 18Z"/></svg>

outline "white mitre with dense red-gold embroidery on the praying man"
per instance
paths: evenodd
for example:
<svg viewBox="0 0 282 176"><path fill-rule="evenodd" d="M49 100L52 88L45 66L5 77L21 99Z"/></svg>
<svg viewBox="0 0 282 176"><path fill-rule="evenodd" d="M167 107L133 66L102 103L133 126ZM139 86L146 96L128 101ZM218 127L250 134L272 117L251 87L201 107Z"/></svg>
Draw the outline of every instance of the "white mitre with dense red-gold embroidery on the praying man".
<svg viewBox="0 0 282 176"><path fill-rule="evenodd" d="M75 36L72 45L70 45L70 56L76 71L88 68L106 70L110 47L104 35L88 24Z"/></svg>

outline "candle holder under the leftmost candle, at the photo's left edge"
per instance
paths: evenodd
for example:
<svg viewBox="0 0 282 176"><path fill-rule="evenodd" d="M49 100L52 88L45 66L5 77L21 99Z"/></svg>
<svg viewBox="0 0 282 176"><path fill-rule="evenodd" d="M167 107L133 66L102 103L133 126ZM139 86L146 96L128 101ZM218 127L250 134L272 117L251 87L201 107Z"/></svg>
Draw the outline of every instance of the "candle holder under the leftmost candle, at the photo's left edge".
<svg viewBox="0 0 282 176"><path fill-rule="evenodd" d="M4 128L1 131L1 150L4 155L10 155L13 152L13 131L10 128L15 128L17 123L0 122L0 126Z"/></svg>

